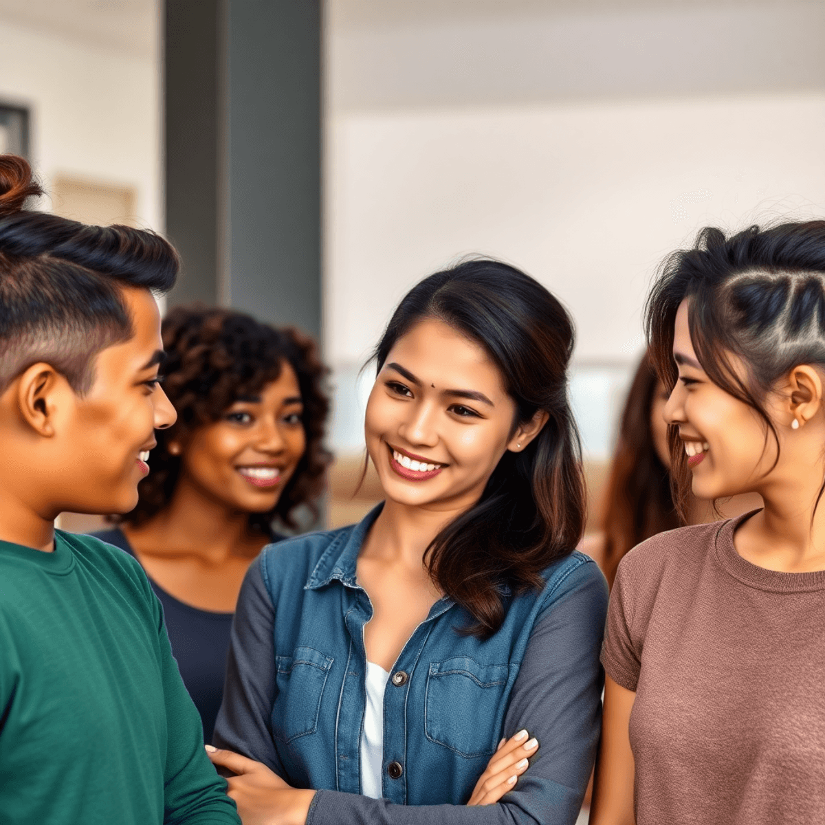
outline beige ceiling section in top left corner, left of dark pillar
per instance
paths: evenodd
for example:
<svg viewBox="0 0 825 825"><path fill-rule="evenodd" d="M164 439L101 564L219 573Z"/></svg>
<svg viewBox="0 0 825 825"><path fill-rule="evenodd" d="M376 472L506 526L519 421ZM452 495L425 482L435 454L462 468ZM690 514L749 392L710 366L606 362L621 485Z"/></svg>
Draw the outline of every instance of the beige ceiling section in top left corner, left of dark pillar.
<svg viewBox="0 0 825 825"><path fill-rule="evenodd" d="M130 54L157 54L161 0L0 0L12 22Z"/></svg>

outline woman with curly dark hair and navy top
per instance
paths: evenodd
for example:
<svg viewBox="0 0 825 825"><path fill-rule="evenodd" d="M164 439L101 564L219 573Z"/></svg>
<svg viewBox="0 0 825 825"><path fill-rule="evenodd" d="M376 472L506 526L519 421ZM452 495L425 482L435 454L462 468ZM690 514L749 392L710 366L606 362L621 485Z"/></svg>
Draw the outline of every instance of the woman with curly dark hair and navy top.
<svg viewBox="0 0 825 825"><path fill-rule="evenodd" d="M295 529L302 506L317 515L326 370L309 338L229 309L172 309L163 346L177 423L158 431L137 507L97 535L148 573L209 742L247 567L282 538L273 522Z"/></svg>

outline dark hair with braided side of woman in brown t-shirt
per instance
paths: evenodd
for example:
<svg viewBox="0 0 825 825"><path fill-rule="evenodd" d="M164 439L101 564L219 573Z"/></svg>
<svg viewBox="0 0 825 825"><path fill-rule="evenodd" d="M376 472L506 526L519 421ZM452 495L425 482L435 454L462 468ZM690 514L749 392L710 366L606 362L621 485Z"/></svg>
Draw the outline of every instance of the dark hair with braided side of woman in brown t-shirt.
<svg viewBox="0 0 825 825"><path fill-rule="evenodd" d="M794 366L825 369L825 220L751 226L729 237L707 227L691 249L667 257L648 296L645 323L653 365L668 391L678 374L673 332L685 299L702 369L756 411L766 446L769 438L775 441L778 461L767 394ZM744 377L734 369L732 355L744 364ZM691 473L676 427L670 446L674 497L686 518Z"/></svg>

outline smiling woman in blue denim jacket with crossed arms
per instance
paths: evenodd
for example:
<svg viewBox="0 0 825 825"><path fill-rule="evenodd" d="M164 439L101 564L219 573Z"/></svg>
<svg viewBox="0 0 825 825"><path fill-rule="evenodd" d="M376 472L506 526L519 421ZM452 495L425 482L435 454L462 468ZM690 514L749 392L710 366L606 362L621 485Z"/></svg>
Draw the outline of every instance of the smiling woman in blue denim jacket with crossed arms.
<svg viewBox="0 0 825 825"><path fill-rule="evenodd" d="M572 350L559 301L499 262L402 300L365 419L385 502L243 584L210 756L245 825L575 822L607 587L573 551Z"/></svg>

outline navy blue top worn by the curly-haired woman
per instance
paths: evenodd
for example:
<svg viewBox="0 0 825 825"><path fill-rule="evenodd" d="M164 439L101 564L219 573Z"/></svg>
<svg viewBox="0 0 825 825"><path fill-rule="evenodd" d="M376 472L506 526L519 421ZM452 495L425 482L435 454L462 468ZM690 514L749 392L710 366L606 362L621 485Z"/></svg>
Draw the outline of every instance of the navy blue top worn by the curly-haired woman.
<svg viewBox="0 0 825 825"><path fill-rule="evenodd" d="M101 530L92 535L137 558L123 530ZM151 577L149 582L163 605L172 653L177 660L183 684L200 713L204 741L211 742L214 720L224 698L226 656L234 614L200 610L186 605L158 587Z"/></svg>

